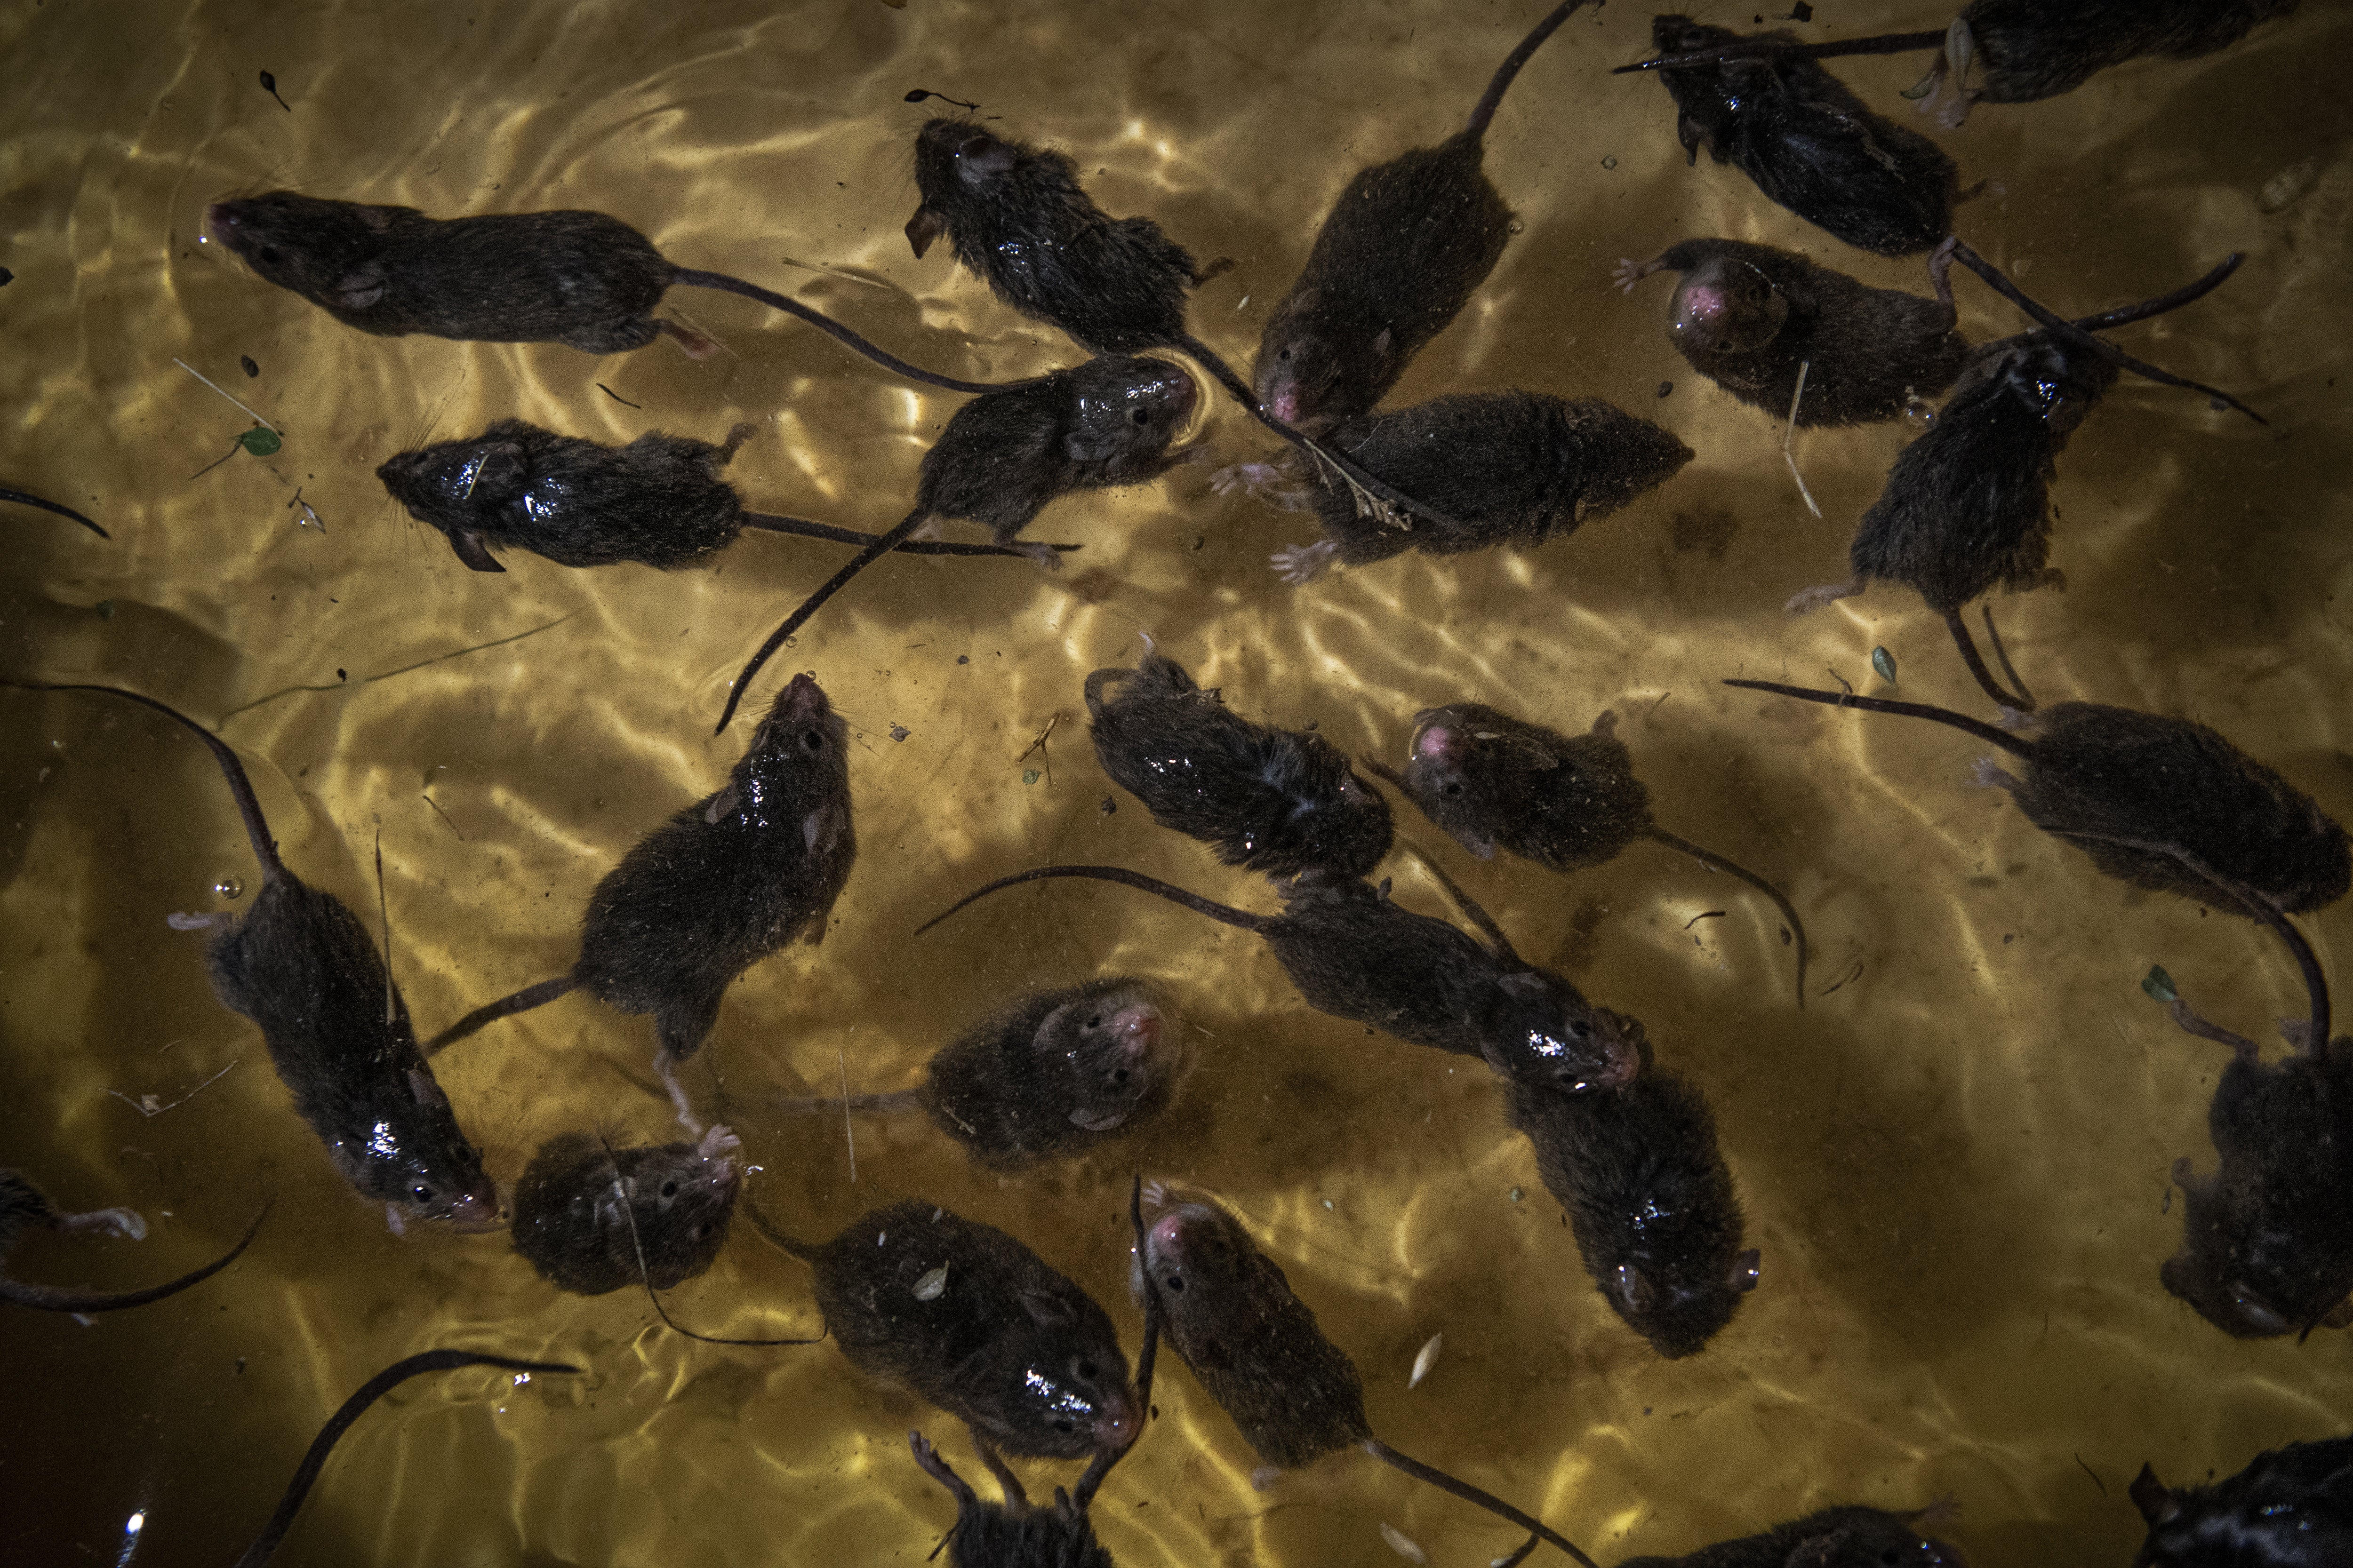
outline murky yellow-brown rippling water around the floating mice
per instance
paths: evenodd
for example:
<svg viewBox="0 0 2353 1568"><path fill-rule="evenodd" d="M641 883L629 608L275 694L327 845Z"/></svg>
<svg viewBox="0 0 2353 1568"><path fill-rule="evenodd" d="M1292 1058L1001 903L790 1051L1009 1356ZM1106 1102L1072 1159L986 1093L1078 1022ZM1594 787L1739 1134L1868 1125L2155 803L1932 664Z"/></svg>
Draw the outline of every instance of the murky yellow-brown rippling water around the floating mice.
<svg viewBox="0 0 2353 1568"><path fill-rule="evenodd" d="M840 550L753 536L713 571L511 555L506 576L478 576L384 498L374 465L499 416L609 442L755 421L729 470L751 505L880 529L955 400L696 292L671 310L725 341L706 362L668 343L591 360L362 336L198 244L207 200L294 186L442 216L593 207L953 374L1075 362L946 249L908 256L925 110L901 96L934 87L1071 150L1108 212L1233 256L1193 322L1247 364L1339 186L1449 134L1539 9L16 0L0 12L0 263L16 273L0 292L0 482L89 510L113 543L7 510L0 665L132 684L219 722L289 865L360 910L376 903L381 825L395 973L440 1027L572 961L595 879L739 755L746 724L708 733L727 679ZM1937 0L1819 12L1814 33L1948 14ZM2155 1279L2181 1222L2167 1166L2212 1161L2224 1053L2172 1030L2139 976L2165 961L2200 1009L2261 1034L2301 994L2259 929L2106 882L2002 795L1967 788L1967 738L1715 684L1838 672L1878 689L1885 644L1901 696L1981 708L1904 590L1802 621L1779 609L1845 576L1852 522L1911 430L1800 435L1814 520L1779 421L1671 353L1668 284L1624 299L1607 282L1619 256L1725 233L1920 287L1918 261L1845 249L1706 160L1685 169L1659 85L1605 75L1647 52L1647 26L1624 0L1579 14L1520 78L1487 169L1525 233L1395 402L1598 395L1668 423L1697 461L1534 555L1402 557L1304 590L1266 555L1311 524L1209 494L1207 468L1056 505L1033 536L1087 545L1061 576L875 567L779 661L814 668L854 719L859 867L821 947L729 992L687 1081L706 1103L725 1084L760 1166L753 1194L793 1227L831 1234L873 1204L934 1197L1026 1237L1115 1309L1129 1345L1129 1168L1224 1194L1365 1368L1388 1441L1605 1561L1828 1502L1953 1493L1948 1533L1979 1563L2120 1563L2139 1537L2122 1488L2144 1460L2202 1479L2353 1420L2341 1335L2233 1342ZM2353 110L2334 63L2348 45L2346 9L2308 0L2228 54L1984 108L1946 139L1965 181L1993 181L1960 209L1962 233L2073 313L2249 252L2224 292L2122 339L2233 388L2273 428L2122 383L2061 458L2066 592L2000 611L2045 701L2214 722L2339 818L2353 816L2337 383ZM1918 68L1840 66L1889 113ZM2282 186L2301 193L2271 212L2266 181L2306 160ZM2014 329L1974 282L1960 289L1969 336ZM280 423L285 449L191 480L249 421L174 357ZM1221 456L1264 456L1231 407L1212 421ZM322 527L289 505L296 487ZM1788 889L1819 943L1821 994L1802 1013L1774 922L1722 877L1635 849L1562 882L1471 863L1400 818L1532 959L1638 1013L1661 1060L1708 1091L1765 1276L1706 1354L1659 1361L1605 1309L1482 1070L1306 1011L1254 938L1071 884L911 938L969 884L1042 860L1118 860L1271 907L1134 802L1101 811L1080 682L1132 661L1139 632L1247 715L1391 757L1428 703L1480 698L1560 729L1614 708L1661 823ZM449 656L496 639L513 642ZM953 1509L906 1429L976 1476L969 1446L831 1345L694 1345L654 1326L642 1295L558 1295L499 1237L386 1234L294 1119L252 1025L212 999L200 938L165 926L172 910L242 907L209 891L226 877L256 884L212 762L104 698L0 708L0 1161L68 1206L155 1220L144 1246L35 1237L9 1267L144 1284L278 1197L252 1253L172 1302L89 1328L7 1319L0 1559L118 1561L144 1512L129 1561L228 1561L325 1413L433 1345L591 1373L409 1385L344 1441L280 1561L932 1552ZM1442 907L1409 856L1388 870L1407 903ZM1708 910L1725 917L1692 924ZM2325 957L2348 931L2344 910L2306 924ZM908 1084L1009 990L1108 971L1162 980L1200 1046L1179 1110L1113 1157L1000 1180L925 1126L861 1119L852 1180L838 1117L758 1110L838 1091L845 1067L859 1088ZM511 1182L565 1128L673 1135L649 1046L645 1020L574 997L452 1051L440 1079ZM814 1331L805 1274L748 1229L671 1307L706 1333ZM1445 1352L1407 1389L1433 1333ZM1252 1453L1179 1366L1155 1401L1162 1420L1094 1509L1129 1568L1391 1561L1384 1521L1433 1563L1515 1544L1362 1458L1257 1493Z"/></svg>

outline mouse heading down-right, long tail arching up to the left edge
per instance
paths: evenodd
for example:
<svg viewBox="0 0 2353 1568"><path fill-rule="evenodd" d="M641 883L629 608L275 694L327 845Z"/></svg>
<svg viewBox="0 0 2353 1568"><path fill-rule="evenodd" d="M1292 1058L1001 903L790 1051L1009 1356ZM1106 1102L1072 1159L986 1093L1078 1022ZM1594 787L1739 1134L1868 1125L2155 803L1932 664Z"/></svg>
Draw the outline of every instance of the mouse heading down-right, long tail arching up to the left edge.
<svg viewBox="0 0 2353 1568"><path fill-rule="evenodd" d="M212 750L261 860L261 891L242 917L169 917L179 931L214 931L205 950L212 994L261 1027L294 1110L327 1145L327 1159L344 1180L386 1206L395 1232L407 1220L494 1229L499 1190L416 1048L409 1009L376 957L374 938L341 898L313 889L278 858L278 842L261 820L261 802L238 755L188 715L136 691L5 684L120 696L186 726Z"/></svg>

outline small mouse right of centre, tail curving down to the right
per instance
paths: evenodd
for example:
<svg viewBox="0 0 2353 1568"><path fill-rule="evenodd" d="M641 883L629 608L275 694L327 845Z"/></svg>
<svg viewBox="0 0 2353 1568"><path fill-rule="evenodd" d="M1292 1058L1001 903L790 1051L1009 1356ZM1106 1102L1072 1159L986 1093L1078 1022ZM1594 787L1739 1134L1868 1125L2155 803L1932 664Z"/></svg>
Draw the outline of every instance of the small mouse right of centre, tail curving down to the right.
<svg viewBox="0 0 2353 1568"><path fill-rule="evenodd" d="M1588 733L1572 738L1485 703L1424 708L1405 752L1405 771L1391 773L1395 785L1480 860L1508 849L1546 870L1577 872L1649 839L1758 889L1788 922L1798 947L1798 1006L1805 1006L1807 950L1798 910L1755 872L1652 820L1649 790L1617 738L1617 712L1605 710Z"/></svg>

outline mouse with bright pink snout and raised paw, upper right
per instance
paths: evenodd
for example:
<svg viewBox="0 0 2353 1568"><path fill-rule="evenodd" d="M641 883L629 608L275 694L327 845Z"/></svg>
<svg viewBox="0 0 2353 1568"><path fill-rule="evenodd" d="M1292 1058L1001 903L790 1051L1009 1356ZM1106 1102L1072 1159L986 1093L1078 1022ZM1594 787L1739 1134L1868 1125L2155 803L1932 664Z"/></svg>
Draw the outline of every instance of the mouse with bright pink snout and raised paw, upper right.
<svg viewBox="0 0 2353 1568"><path fill-rule="evenodd" d="M1668 341L1694 371L1800 428L1897 418L1960 378L1953 252L1929 252L1934 299L1873 289L1819 261L1746 240L1682 240L1619 261L1617 284L1675 273ZM1802 376L1802 381L1800 381Z"/></svg>

